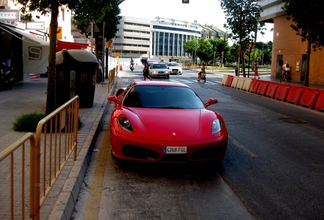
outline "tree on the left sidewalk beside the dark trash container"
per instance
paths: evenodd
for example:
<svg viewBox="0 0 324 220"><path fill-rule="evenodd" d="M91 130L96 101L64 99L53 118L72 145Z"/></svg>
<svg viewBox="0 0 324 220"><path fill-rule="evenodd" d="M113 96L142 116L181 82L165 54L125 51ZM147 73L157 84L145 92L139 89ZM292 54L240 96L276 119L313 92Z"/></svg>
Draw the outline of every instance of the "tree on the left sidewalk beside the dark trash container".
<svg viewBox="0 0 324 220"><path fill-rule="evenodd" d="M38 11L41 15L50 14L50 36L48 53L48 78L47 78L47 97L46 115L56 109L56 40L58 29L59 7L67 6L74 9L77 0L14 0L21 5L20 11L27 20L32 19L32 12Z"/></svg>

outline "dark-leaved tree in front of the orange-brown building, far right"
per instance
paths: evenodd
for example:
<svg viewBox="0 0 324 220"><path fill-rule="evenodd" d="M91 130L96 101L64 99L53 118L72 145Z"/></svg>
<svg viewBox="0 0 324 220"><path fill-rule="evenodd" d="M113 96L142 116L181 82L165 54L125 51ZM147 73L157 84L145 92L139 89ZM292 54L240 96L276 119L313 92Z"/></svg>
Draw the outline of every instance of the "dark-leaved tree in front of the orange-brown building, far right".
<svg viewBox="0 0 324 220"><path fill-rule="evenodd" d="M288 20L292 18L294 24L291 28L300 35L302 42L307 41L306 68L304 86L309 85L309 65L311 47L316 48L324 46L324 22L322 11L324 1L310 0L305 4L302 0L283 0L285 3L282 9L289 15Z"/></svg>

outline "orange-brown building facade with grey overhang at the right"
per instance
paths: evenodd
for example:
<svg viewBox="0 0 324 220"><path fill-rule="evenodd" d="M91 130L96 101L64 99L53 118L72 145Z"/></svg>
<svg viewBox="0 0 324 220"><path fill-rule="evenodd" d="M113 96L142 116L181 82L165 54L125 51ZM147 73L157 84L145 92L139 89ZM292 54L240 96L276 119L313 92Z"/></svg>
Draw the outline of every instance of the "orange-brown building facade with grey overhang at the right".
<svg viewBox="0 0 324 220"><path fill-rule="evenodd" d="M260 21L274 23L273 51L271 76L279 78L281 74L280 60L288 62L291 69L291 78L304 81L306 67L307 42L291 29L291 19L287 20L286 13L281 9L284 3L281 0L259 0L262 7ZM324 50L311 51L309 82L324 84Z"/></svg>

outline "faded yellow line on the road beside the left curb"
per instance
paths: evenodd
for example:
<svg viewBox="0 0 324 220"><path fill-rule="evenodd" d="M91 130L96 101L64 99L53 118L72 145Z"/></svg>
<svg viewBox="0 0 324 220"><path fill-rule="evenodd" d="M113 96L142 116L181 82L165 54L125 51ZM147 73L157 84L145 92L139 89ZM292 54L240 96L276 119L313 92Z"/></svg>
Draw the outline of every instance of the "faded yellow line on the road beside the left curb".
<svg viewBox="0 0 324 220"><path fill-rule="evenodd" d="M96 169L92 180L84 220L98 219L104 170L106 166L107 155L110 152L109 131L105 131L102 141L98 144L101 145L100 154L96 162Z"/></svg>

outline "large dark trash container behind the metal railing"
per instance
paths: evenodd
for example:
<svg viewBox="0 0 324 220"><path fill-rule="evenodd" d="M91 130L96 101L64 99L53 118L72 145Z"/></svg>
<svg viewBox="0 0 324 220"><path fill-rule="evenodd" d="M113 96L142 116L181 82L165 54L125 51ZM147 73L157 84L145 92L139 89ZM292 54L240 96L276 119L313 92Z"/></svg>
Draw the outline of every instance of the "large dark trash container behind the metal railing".
<svg viewBox="0 0 324 220"><path fill-rule="evenodd" d="M63 49L56 53L56 107L79 96L79 107L92 107L98 60L86 50Z"/></svg>

